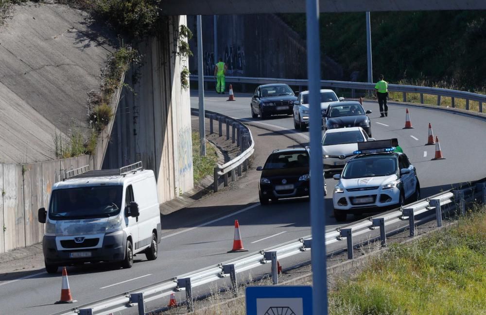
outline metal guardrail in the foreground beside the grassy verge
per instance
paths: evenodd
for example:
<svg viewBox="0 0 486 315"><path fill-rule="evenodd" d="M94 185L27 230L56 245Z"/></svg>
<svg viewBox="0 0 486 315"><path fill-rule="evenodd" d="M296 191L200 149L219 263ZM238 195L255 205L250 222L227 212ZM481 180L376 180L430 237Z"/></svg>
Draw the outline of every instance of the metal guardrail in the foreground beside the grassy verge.
<svg viewBox="0 0 486 315"><path fill-rule="evenodd" d="M353 237L359 236L370 230L380 229L382 246L386 245L386 228L399 222L408 224L401 226L403 230L410 229L410 236L415 236L416 216L427 212L434 213L436 226L442 226L442 217L455 211L459 215L466 214L468 202L480 200L486 204L486 179L471 183L467 187L451 189L446 192L419 200L399 209L391 210L377 216L370 216L362 220L331 229L325 232L326 245L339 243L346 240L348 259L353 259L353 248L360 246L361 242L354 243ZM263 264L272 264L272 280L278 284L277 258L282 259L297 255L312 249L312 237L305 236L297 240L280 244L268 249L245 255L243 257L212 265L197 271L183 274L171 279L154 283L131 292L104 298L100 301L82 305L69 311L56 313L55 315L109 315L113 312L126 310L137 306L139 315L145 315L145 303L161 298L168 298L176 291L186 291L186 305L189 311L193 311L192 288L229 277L232 291L238 295L238 283L236 274L259 267Z"/></svg>

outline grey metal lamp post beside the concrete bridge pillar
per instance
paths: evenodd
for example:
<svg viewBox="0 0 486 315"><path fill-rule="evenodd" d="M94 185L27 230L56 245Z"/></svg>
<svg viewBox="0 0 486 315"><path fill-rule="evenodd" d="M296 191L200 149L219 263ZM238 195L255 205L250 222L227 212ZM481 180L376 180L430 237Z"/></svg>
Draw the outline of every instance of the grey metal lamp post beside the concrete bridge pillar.
<svg viewBox="0 0 486 315"><path fill-rule="evenodd" d="M204 116L203 31L201 16L197 16L197 76L199 90L199 154L206 156L206 126Z"/></svg>

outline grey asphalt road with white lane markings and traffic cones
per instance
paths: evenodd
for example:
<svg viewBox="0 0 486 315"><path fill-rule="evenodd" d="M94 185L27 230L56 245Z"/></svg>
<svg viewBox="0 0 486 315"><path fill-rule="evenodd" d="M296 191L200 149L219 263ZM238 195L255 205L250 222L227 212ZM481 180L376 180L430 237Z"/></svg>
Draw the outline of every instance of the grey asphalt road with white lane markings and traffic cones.
<svg viewBox="0 0 486 315"><path fill-rule="evenodd" d="M206 109L245 119L253 126L251 130L256 143L255 167L262 165L273 149L309 142L307 132L293 129L291 116L253 119L250 116L249 96L237 94L237 100L232 102L226 99L227 94L221 96L207 92ZM191 97L191 106L197 107L196 97ZM365 103L364 106L373 111L370 114L373 137L397 137L400 146L417 167L422 197L435 194L441 189L449 189L451 183L467 182L486 176L484 121L429 109L410 108L415 129L403 130L405 107L390 105L389 116L378 118L377 104ZM430 161L434 156L434 146L424 146L429 122L432 123L434 134L439 136L446 160ZM230 189L201 199L187 209L164 216L163 239L156 261L148 262L145 255L141 254L135 257L136 263L131 269L113 269L103 264L69 267L71 293L79 301L72 305L52 304L60 296L60 274L52 276L43 269L38 269L27 275L28 278L19 279L24 274L13 273L9 275L8 281L0 282L0 314L53 314L242 256L245 253L226 253L231 249L235 219L240 222L243 243L250 252L311 233L308 199L280 201L261 207L258 203L257 187L260 173L250 170L244 176ZM326 182L330 192L326 199L326 228L330 229L336 226L334 218L330 217L330 198L335 181L327 179ZM353 217L349 216L348 220L351 219ZM284 260L283 264L286 267L309 257L308 253L302 254ZM258 272L264 272L265 268L268 269L268 266L262 267ZM166 304L167 301L151 303L147 309Z"/></svg>

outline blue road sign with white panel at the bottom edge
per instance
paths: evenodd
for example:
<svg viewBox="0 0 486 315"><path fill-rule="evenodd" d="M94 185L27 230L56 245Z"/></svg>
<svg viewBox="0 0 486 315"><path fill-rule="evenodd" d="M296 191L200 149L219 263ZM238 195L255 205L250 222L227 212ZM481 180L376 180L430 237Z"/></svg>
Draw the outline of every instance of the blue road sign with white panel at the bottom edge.
<svg viewBox="0 0 486 315"><path fill-rule="evenodd" d="M246 315L312 315L312 287L249 286Z"/></svg>

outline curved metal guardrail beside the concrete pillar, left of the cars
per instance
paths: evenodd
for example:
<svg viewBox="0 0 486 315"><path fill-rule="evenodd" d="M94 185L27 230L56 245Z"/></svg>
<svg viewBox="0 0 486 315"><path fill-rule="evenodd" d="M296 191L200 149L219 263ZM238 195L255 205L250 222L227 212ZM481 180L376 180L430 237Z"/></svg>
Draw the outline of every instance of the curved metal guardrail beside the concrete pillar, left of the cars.
<svg viewBox="0 0 486 315"><path fill-rule="evenodd" d="M199 116L199 110L191 108L191 114ZM255 151L253 136L251 131L246 127L242 121L231 118L226 115L211 112L205 110L205 117L209 118L209 133L214 133L214 121L218 122L219 136L223 136L223 124L226 124L226 140L231 138L232 143L236 143L237 147L240 147L241 153L231 161L224 165L218 165L214 167L214 192L218 191L219 178L223 176L223 182L225 187L228 185L228 174L231 174L231 181L235 181L236 175L242 176L243 172L248 170L248 158ZM231 135L230 135L231 130Z"/></svg>

